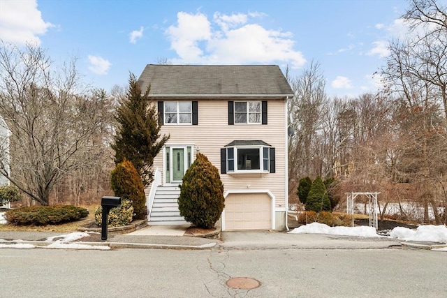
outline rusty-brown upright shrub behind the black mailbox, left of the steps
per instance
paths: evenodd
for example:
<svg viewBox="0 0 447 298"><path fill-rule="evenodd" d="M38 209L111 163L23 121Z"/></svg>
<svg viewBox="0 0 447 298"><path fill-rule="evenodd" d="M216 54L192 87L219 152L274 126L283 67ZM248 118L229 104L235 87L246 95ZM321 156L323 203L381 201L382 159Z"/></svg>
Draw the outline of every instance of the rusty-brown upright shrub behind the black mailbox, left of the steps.
<svg viewBox="0 0 447 298"><path fill-rule="evenodd" d="M135 216L133 219L145 219L146 197L140 175L126 158L119 163L110 174L113 193L122 200L130 200Z"/></svg>

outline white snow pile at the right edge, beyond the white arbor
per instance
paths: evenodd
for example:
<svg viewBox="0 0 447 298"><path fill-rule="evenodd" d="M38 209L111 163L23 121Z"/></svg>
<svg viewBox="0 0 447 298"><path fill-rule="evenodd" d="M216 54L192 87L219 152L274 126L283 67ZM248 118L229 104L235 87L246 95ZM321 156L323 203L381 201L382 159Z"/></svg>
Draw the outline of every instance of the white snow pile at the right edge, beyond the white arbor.
<svg viewBox="0 0 447 298"><path fill-rule="evenodd" d="M396 227L390 237L405 241L430 241L447 243L447 227L445 225L420 225L416 230Z"/></svg>

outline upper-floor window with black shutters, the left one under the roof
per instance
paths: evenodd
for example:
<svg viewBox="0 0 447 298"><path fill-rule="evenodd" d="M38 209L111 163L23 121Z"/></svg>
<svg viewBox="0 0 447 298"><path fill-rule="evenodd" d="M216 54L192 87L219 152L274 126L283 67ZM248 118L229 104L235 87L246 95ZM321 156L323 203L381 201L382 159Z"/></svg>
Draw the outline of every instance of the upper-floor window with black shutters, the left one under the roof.
<svg viewBox="0 0 447 298"><path fill-rule="evenodd" d="M159 101L159 124L198 124L197 101Z"/></svg>

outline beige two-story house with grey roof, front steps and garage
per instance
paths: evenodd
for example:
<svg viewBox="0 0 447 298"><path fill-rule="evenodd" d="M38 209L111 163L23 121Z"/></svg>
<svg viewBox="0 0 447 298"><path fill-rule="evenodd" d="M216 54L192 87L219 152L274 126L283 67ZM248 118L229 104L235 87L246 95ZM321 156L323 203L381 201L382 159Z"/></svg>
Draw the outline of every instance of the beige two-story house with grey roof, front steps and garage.
<svg viewBox="0 0 447 298"><path fill-rule="evenodd" d="M287 99L278 66L147 65L138 80L170 135L154 159L149 225L184 223L178 185L196 154L221 173L222 230L284 230L288 207Z"/></svg>

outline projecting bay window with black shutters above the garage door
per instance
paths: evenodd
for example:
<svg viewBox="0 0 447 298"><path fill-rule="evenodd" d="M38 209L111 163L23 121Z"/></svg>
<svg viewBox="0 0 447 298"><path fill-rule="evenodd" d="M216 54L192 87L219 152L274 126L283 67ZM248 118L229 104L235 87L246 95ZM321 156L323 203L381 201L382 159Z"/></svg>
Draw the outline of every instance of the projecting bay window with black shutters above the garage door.
<svg viewBox="0 0 447 298"><path fill-rule="evenodd" d="M274 173L274 148L262 141L233 141L221 149L221 173Z"/></svg>

